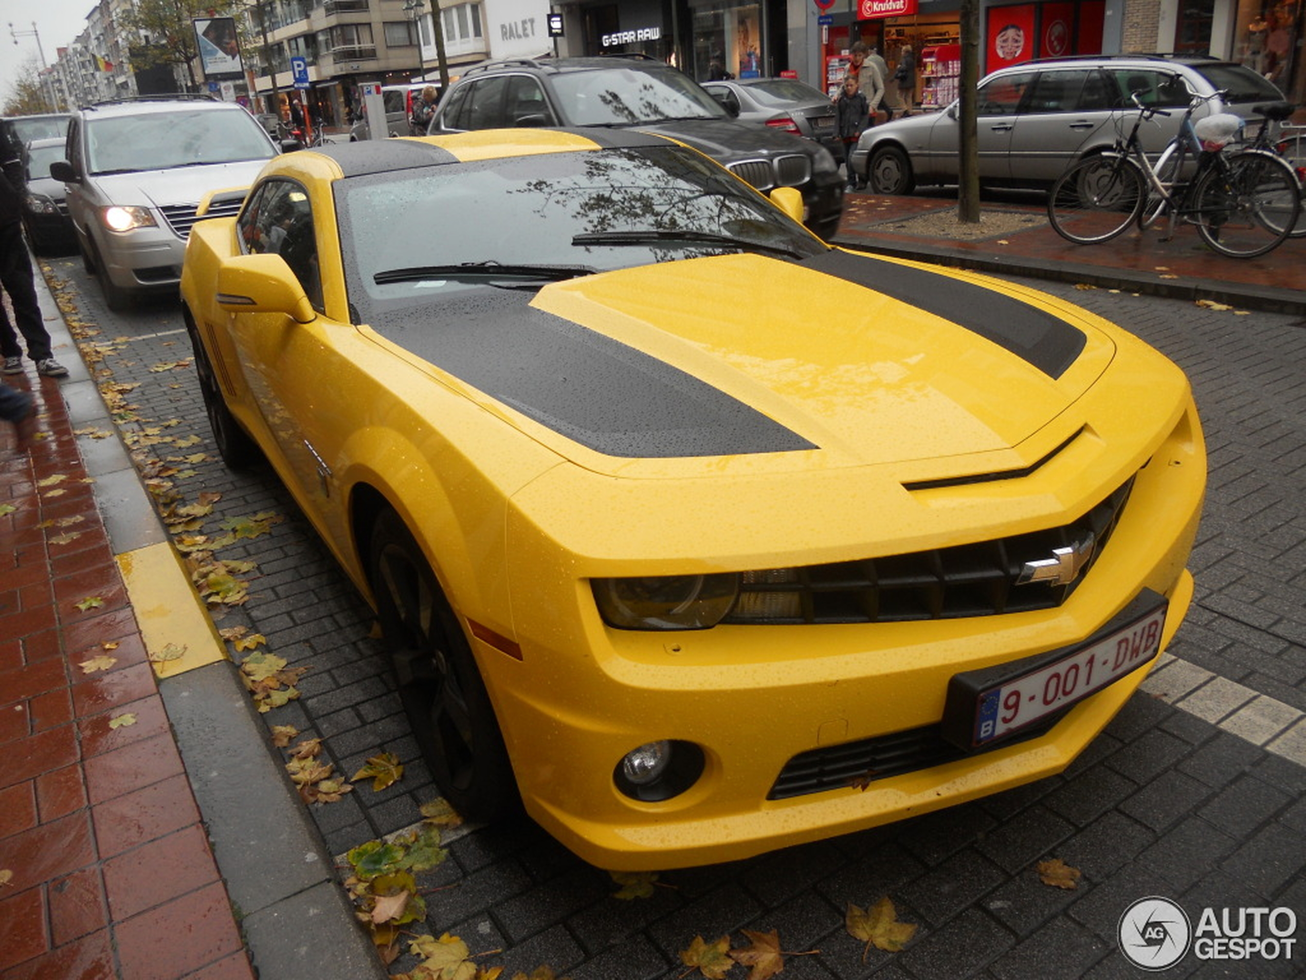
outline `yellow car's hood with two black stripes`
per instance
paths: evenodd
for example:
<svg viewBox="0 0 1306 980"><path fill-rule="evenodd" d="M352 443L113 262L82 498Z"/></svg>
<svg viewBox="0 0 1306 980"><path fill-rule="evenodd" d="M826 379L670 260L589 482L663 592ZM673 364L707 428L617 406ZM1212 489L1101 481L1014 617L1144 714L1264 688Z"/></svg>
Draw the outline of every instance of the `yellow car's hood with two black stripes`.
<svg viewBox="0 0 1306 980"><path fill-rule="evenodd" d="M811 466L815 453L846 466L1008 449L1066 412L1114 354L1071 304L840 250L464 295L372 328L603 472L650 457Z"/></svg>

